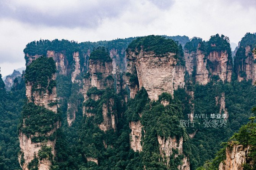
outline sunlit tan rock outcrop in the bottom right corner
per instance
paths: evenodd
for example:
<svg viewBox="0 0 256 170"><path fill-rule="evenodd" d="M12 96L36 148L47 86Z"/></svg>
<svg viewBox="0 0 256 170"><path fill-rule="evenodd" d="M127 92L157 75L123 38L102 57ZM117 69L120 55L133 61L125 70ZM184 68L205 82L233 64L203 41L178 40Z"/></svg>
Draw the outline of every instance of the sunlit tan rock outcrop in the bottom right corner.
<svg viewBox="0 0 256 170"><path fill-rule="evenodd" d="M226 160L219 164L219 170L242 170L246 163L249 148L242 145L234 145L226 148ZM253 165L252 162L250 162Z"/></svg>

